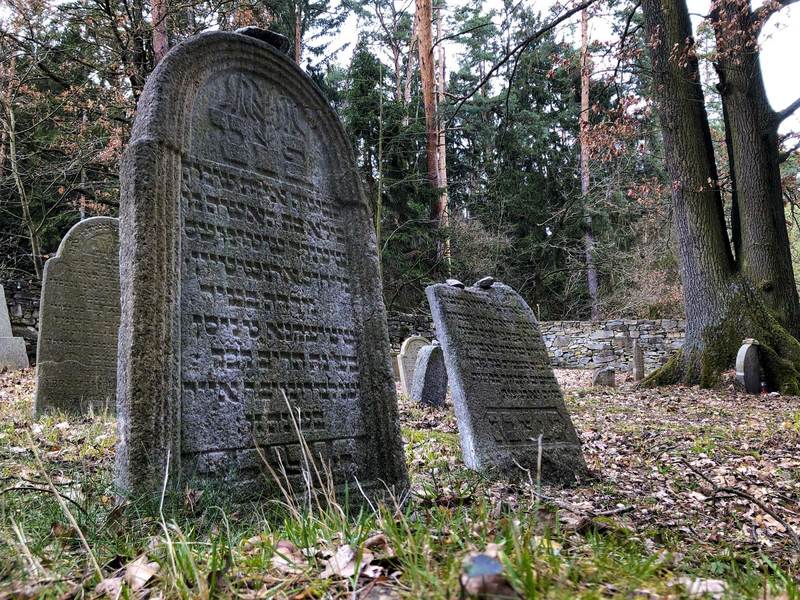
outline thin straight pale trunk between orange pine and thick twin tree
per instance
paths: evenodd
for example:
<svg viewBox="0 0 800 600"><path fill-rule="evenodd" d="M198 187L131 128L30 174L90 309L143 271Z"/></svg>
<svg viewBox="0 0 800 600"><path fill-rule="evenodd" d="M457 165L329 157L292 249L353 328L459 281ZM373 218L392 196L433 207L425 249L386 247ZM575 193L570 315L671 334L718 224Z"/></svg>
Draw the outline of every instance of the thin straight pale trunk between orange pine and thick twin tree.
<svg viewBox="0 0 800 600"><path fill-rule="evenodd" d="M592 321L600 319L600 300L597 285L597 267L594 262L594 228L589 213L589 12L581 12L581 196L583 199L583 242L586 257L586 283L589 289Z"/></svg>

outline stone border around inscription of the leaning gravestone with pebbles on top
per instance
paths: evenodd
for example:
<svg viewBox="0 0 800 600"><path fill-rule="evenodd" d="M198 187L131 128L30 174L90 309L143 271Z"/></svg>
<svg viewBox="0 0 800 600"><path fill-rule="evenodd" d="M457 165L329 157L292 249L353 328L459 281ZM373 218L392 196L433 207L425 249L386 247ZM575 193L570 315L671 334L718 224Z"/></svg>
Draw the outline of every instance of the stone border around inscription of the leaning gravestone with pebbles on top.
<svg viewBox="0 0 800 600"><path fill-rule="evenodd" d="M464 458L464 464L467 467L478 470L495 470L502 473L502 475L512 478L526 477L526 473L519 468L516 462L519 462L520 456L507 451L481 451L476 447L474 438L474 421L482 418L479 411L474 411L469 406L469 401L464 392L465 385L462 370L458 365L456 359L457 349L455 348L451 332L446 327L446 319L442 311L442 300L438 297L440 290L452 291L453 286L437 283L429 285L425 288L425 295L428 297L428 304L431 308L431 315L433 317L434 326L436 328L436 337L441 343L444 352L444 363L447 369L447 380L450 386L450 394L453 399L453 407L455 409L458 421L458 436L461 442L461 453ZM481 289L478 287L468 287L460 290L461 294L479 293L479 294L492 294L496 297L511 296L517 303L520 309L527 313L531 322L534 324L534 329L539 330L538 321L533 314L525 300L511 287L495 283L489 289ZM542 345L542 351L547 355L544 348L544 341L539 332L539 343ZM547 368L551 369L548 361ZM561 406L559 407L562 417L565 419L565 430L567 436L572 438L572 443L545 443L542 444L542 470L541 477L543 480L553 481L562 484L573 484L576 481L576 476L585 478L589 475L589 470L583 458L583 452L580 446L580 438L578 437L575 426L567 411L566 404L564 403L563 394L561 394L561 387L555 379L555 374L552 375L553 381L561 395ZM516 462L515 462L516 461ZM527 456L523 462L523 466L531 470L532 476L536 476L536 456Z"/></svg>

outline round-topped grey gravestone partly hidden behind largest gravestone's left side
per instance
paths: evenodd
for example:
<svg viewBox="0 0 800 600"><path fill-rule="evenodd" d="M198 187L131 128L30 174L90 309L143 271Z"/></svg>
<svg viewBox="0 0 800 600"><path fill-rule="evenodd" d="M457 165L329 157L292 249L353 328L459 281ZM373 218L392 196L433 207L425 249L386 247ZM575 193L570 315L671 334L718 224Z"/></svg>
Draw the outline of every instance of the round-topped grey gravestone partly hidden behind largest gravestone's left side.
<svg viewBox="0 0 800 600"><path fill-rule="evenodd" d="M92 217L67 232L44 266L36 412L116 408L119 222Z"/></svg>

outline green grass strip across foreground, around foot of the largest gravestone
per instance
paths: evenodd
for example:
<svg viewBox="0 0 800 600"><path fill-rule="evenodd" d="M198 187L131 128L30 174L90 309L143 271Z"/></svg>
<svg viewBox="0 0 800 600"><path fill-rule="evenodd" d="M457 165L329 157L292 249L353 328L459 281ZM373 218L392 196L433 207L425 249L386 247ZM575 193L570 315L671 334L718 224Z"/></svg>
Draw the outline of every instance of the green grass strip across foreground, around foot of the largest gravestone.
<svg viewBox="0 0 800 600"><path fill-rule="evenodd" d="M498 486L460 466L455 434L409 426L403 435L414 495L401 509L231 506L219 490L207 489L182 490L163 516L153 516L143 503L115 504L112 419L31 420L29 406L26 397L0 405L0 598L3 590L31 598L91 596L100 581L48 491L31 440L47 476L70 499L65 506L103 578L121 576L145 555L158 565L146 585L151 597L352 598L377 585L387 598L458 598L463 560L490 549L524 598L682 597L673 585L681 576L722 579L728 598L800 598L786 566L759 554L720 546L709 555L707 546L687 546L669 529L636 533L613 518L565 524L530 488ZM701 444L698 450L707 451ZM376 534L385 536L382 549L372 551L379 579L321 576L331 553L349 545L358 563ZM293 572L276 566L286 548L303 558ZM125 584L120 597L140 593Z"/></svg>

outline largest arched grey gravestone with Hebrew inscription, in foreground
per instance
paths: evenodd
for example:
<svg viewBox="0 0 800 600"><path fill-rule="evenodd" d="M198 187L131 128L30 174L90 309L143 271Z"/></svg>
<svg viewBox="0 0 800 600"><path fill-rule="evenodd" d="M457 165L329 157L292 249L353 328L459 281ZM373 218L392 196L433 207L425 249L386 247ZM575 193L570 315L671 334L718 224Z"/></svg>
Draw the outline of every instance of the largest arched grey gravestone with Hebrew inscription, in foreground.
<svg viewBox="0 0 800 600"><path fill-rule="evenodd" d="M121 186L118 485L152 493L169 466L275 493L262 457L302 485L299 411L336 485L404 487L368 201L310 79L242 34L179 44Z"/></svg>

